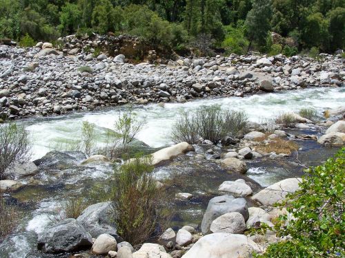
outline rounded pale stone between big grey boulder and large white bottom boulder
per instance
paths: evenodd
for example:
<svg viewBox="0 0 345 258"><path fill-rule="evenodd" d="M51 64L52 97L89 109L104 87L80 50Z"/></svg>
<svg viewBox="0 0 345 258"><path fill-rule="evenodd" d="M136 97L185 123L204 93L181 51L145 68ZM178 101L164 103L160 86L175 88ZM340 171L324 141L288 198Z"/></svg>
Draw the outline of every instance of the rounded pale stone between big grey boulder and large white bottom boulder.
<svg viewBox="0 0 345 258"><path fill-rule="evenodd" d="M246 230L246 222L241 213L226 213L215 219L211 226L212 233L242 234Z"/></svg>

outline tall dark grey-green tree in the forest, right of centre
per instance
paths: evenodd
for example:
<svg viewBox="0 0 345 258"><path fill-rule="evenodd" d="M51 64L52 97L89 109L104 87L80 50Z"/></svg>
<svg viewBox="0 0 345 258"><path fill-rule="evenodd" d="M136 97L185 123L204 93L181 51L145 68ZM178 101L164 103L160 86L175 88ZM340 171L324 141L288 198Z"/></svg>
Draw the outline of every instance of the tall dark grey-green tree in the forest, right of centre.
<svg viewBox="0 0 345 258"><path fill-rule="evenodd" d="M254 0L253 8L246 17L246 28L249 39L248 50L252 42L264 45L266 36L270 30L270 19L272 17L272 3L270 0Z"/></svg>

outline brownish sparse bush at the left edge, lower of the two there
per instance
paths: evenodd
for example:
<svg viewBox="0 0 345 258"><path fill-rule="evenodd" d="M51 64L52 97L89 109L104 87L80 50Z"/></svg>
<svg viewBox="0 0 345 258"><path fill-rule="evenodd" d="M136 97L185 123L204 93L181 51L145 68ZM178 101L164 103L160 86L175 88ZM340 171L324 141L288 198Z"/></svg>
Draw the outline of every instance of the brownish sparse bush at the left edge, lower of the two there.
<svg viewBox="0 0 345 258"><path fill-rule="evenodd" d="M0 243L1 240L12 233L23 217L18 206L10 206L6 203L3 193L0 191Z"/></svg>

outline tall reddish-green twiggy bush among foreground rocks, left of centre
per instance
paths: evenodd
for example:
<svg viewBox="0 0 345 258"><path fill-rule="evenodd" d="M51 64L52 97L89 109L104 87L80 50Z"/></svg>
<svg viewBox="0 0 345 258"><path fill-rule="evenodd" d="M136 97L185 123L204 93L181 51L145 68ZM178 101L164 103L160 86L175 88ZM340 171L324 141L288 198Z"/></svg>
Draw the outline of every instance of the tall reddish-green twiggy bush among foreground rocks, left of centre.
<svg viewBox="0 0 345 258"><path fill-rule="evenodd" d="M161 191L152 173L151 158L138 157L115 169L112 205L117 231L131 244L141 244L155 233Z"/></svg>

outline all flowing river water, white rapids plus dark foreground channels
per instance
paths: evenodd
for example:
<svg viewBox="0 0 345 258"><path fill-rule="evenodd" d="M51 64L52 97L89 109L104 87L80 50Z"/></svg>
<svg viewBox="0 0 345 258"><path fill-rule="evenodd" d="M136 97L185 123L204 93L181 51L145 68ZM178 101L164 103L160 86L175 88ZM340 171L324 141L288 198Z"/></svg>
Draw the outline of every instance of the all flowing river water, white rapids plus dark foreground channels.
<svg viewBox="0 0 345 258"><path fill-rule="evenodd" d="M336 108L345 103L345 88L312 88L279 94L258 94L245 98L213 98L195 100L188 103L166 103L164 107L157 104L135 106L139 118L147 123L137 137L149 147L160 148L170 144L169 132L173 122L181 111L194 112L201 105L220 105L222 109L242 110L253 122L264 122L285 111L298 111L303 107L313 107L322 114L325 109ZM77 113L57 118L30 118L23 120L23 125L30 131L33 139L32 160L41 158L52 147L61 142L79 140L83 121L97 125L97 140L103 144L104 129L113 129L119 117L119 111L126 107L114 107L90 113ZM313 131L313 130L312 130ZM292 132L293 133L293 132ZM309 132L307 132L309 133ZM313 132L312 132L313 133ZM315 134L319 132L314 132ZM325 160L335 149L321 147L313 140L299 142L303 151L299 160L313 165ZM216 162L199 160L197 153L180 156L168 165L160 166L155 173L157 178L173 178L167 189L166 203L174 213L172 225L182 226L186 223L199 223L208 200L217 193L217 187L225 180L245 178L254 191L284 178L302 175L302 167L296 157L279 164L276 160L252 160L248 162L245 175L228 174ZM79 158L81 161L82 158ZM63 175L39 175L39 186L32 182L23 190L14 193L20 204L28 204L28 216L23 220L21 230L10 237L6 249L1 249L0 257L49 257L35 250L36 242L32 232L41 232L56 219L61 209L61 202L70 194L83 194L95 184L103 184L108 179L111 166L95 165L85 169L70 169ZM177 192L193 193L188 202L175 200ZM1 256L1 250L6 251Z"/></svg>

